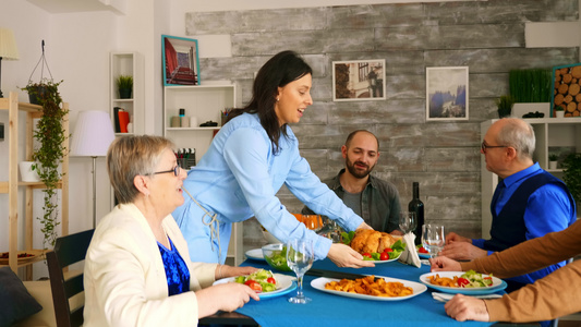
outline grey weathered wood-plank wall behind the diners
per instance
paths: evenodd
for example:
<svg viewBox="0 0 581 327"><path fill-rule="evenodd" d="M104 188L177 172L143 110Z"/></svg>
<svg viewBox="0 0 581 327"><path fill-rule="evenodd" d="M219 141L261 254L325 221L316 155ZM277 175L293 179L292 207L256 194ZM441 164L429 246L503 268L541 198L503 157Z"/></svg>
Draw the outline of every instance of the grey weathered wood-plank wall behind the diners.
<svg viewBox="0 0 581 327"><path fill-rule="evenodd" d="M251 97L255 71L292 49L314 70L312 96L292 126L322 179L343 167L340 146L355 129L380 141L375 174L394 182L407 205L420 182L426 219L472 237L481 229L480 123L497 118L511 69L574 63L579 48L525 48L525 22L577 21L578 0L488 0L186 13L187 35L229 34L231 58L201 59L201 76L238 83ZM331 62L386 60L386 99L332 101ZM469 120L426 122L425 68L469 66ZM279 192L291 211L302 204ZM259 238L256 221L246 240Z"/></svg>

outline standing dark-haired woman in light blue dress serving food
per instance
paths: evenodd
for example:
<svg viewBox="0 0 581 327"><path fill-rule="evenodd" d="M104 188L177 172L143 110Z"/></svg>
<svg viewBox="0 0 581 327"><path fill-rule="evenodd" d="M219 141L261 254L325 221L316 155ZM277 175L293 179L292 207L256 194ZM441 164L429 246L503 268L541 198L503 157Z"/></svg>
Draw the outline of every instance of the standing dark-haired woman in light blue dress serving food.
<svg viewBox="0 0 581 327"><path fill-rule="evenodd" d="M298 53L283 51L258 71L251 102L232 110L208 152L183 183L185 203L173 211L193 261L223 263L232 223L256 217L277 239L311 239L315 258L340 267L373 263L344 244L307 230L276 193L288 189L315 213L346 230L370 228L311 171L289 123L298 123L311 98L312 69Z"/></svg>

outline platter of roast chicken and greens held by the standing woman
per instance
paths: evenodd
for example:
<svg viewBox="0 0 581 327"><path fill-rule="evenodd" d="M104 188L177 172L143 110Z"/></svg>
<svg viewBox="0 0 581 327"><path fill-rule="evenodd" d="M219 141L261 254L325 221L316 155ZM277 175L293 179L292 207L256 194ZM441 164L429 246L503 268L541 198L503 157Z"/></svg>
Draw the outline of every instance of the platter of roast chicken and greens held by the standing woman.
<svg viewBox="0 0 581 327"><path fill-rule="evenodd" d="M364 261L374 264L397 261L406 250L406 243L402 242L401 237L394 237L372 229L342 232L341 241L363 255Z"/></svg>

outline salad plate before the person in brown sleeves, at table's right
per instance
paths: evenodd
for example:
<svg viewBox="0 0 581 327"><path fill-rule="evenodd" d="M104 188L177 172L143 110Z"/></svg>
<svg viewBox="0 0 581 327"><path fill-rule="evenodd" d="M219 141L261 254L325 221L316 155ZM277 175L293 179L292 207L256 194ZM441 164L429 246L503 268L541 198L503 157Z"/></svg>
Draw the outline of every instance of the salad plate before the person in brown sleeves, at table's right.
<svg viewBox="0 0 581 327"><path fill-rule="evenodd" d="M507 288L506 281L474 270L438 271L420 276L420 281L445 293L491 294Z"/></svg>

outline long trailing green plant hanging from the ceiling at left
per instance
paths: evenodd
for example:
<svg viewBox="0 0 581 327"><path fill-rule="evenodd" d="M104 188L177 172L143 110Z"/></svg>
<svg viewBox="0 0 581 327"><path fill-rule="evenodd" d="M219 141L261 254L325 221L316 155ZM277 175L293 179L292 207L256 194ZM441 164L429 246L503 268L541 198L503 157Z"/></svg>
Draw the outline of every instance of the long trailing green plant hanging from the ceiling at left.
<svg viewBox="0 0 581 327"><path fill-rule="evenodd" d="M59 94L60 82L43 78L39 83L29 82L26 89L31 97L36 97L41 107L43 116L34 131L34 138L38 141L38 148L33 152L34 169L38 172L40 181L45 183L44 216L38 218L44 233L43 244L55 245L57 240L58 221L58 198L57 186L62 178L59 172L59 165L68 150L63 142L69 137L65 133L62 121L66 117L68 110L62 109L62 98Z"/></svg>

